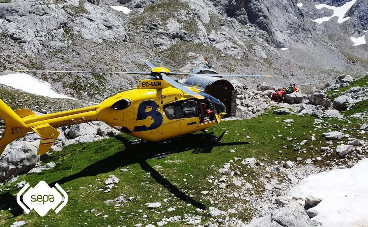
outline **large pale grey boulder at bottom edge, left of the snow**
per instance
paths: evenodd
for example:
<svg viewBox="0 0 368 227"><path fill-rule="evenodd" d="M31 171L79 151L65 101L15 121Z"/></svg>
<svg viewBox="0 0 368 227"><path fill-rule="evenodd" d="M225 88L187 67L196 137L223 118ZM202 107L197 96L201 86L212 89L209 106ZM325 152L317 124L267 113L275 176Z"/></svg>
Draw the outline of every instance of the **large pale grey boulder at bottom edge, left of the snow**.
<svg viewBox="0 0 368 227"><path fill-rule="evenodd" d="M271 214L272 220L287 227L315 227L304 209L296 202L290 202Z"/></svg>

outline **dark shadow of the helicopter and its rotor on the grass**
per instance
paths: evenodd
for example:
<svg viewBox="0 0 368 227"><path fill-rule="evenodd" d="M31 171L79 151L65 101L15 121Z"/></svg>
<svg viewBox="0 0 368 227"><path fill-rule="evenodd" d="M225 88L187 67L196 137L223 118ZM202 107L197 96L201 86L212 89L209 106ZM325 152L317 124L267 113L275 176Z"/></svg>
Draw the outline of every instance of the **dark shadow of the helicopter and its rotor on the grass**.
<svg viewBox="0 0 368 227"><path fill-rule="evenodd" d="M85 167L78 173L54 181L49 184L50 187L53 187L56 183L61 185L81 177L89 177L101 173L109 173L116 170L117 168L138 163L141 166L142 170L150 173L151 177L154 178L156 182L167 188L167 190L177 196L177 198L186 203L190 203L197 208L205 210L206 206L204 204L195 201L194 199L190 198L190 196L180 191L180 189L177 188L176 185L172 184L169 180L167 180L167 178L163 177L157 170L150 166L146 162L146 160L154 157L164 157L173 153L185 152L191 149L193 149L193 154L210 153L215 146L234 146L248 144L248 142L214 143L217 137L214 136L212 133L188 134L186 136L181 136L180 138L173 141L166 141L163 143L144 141L138 144L132 144L130 140L121 135L117 135L115 138L125 145L124 150L117 152L114 155L102 159L96 163L93 163ZM0 194L0 201L5 202L11 206L17 205L15 196L9 196L7 194ZM19 214L19 212L13 213L14 216L17 216Z"/></svg>

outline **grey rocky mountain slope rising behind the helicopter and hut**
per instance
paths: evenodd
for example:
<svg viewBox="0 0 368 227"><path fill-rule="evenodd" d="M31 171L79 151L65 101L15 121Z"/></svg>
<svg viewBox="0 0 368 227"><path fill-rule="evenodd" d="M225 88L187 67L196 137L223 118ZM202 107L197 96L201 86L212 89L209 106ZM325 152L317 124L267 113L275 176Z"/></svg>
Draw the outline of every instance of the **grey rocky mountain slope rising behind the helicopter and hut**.
<svg viewBox="0 0 368 227"><path fill-rule="evenodd" d="M5 2L4 2L5 1ZM353 0L355 1L355 0ZM213 60L220 72L273 74L268 84L320 86L348 72L367 71L367 45L350 37L364 35L367 3L346 9L343 23L318 9L322 1L222 0L2 0L0 70L147 70L142 59L191 71ZM94 4L93 4L94 3ZM345 6L348 1L323 1ZM125 14L110 6L125 6ZM364 40L364 37L363 37ZM286 49L288 48L288 49ZM59 93L99 101L135 86L140 77L117 74L45 74ZM241 79L255 86L264 79ZM89 85L89 86L84 86Z"/></svg>

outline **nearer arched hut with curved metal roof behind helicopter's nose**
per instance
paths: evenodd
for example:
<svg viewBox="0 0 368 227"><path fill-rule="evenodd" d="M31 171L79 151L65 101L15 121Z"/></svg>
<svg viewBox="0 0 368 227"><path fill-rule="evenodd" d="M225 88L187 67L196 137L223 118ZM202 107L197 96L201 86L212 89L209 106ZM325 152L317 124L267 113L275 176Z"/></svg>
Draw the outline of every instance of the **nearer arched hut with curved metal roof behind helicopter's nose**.
<svg viewBox="0 0 368 227"><path fill-rule="evenodd" d="M216 74L214 74L214 76L216 76ZM226 106L225 117L235 116L236 91L234 86L227 79L193 75L185 81L184 85L188 87L198 85L198 90L215 97Z"/></svg>

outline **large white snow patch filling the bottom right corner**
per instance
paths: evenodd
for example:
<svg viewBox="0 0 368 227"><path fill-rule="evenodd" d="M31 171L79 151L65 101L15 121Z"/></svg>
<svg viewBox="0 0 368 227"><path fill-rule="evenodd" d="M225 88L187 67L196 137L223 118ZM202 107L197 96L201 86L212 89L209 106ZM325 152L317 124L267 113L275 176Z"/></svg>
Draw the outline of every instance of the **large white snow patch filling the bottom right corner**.
<svg viewBox="0 0 368 227"><path fill-rule="evenodd" d="M308 195L322 198L313 220L323 227L368 226L368 159L350 169L336 169L313 174L292 188L288 196Z"/></svg>

